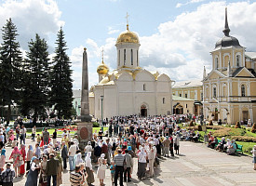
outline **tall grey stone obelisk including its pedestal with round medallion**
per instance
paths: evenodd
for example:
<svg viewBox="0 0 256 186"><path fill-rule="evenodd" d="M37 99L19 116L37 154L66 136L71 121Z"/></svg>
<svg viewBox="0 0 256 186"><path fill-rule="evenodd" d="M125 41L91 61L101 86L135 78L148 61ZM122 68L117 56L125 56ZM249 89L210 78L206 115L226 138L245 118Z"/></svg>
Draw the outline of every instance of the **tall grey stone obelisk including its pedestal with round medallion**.
<svg viewBox="0 0 256 186"><path fill-rule="evenodd" d="M92 137L92 122L89 114L88 103L88 54L87 48L84 48L83 53L83 68L82 68L82 89L81 89L81 122L77 123L77 134L79 139L80 149L84 149L88 141Z"/></svg>

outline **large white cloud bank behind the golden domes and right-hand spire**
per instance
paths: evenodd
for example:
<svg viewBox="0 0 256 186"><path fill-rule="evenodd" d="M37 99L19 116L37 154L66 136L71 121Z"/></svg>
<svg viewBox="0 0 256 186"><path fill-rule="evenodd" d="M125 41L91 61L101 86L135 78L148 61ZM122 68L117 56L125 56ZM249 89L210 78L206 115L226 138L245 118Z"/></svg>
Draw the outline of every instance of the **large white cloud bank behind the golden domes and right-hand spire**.
<svg viewBox="0 0 256 186"><path fill-rule="evenodd" d="M225 2L211 2L177 16L175 20L161 23L157 33L140 36L141 67L149 71L167 73L172 80L202 78L203 66L211 70L210 51L223 36ZM256 3L231 3L228 20L231 35L236 36L241 46L256 51ZM104 61L110 69L116 68L115 39L105 41ZM98 82L97 66L101 63L101 47L91 39L87 41L90 85Z"/></svg>

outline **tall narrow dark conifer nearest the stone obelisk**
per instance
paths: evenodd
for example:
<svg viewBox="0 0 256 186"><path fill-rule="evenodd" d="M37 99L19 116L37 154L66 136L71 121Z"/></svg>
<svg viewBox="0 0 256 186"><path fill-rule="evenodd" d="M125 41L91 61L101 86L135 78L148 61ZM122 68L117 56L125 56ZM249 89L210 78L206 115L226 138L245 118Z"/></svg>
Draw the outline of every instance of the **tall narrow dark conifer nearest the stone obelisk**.
<svg viewBox="0 0 256 186"><path fill-rule="evenodd" d="M66 42L64 33L61 30L57 34L57 47L53 58L53 71L51 73L51 103L54 110L58 111L59 118L70 118L72 115L73 101L73 80L71 62L66 54Z"/></svg>

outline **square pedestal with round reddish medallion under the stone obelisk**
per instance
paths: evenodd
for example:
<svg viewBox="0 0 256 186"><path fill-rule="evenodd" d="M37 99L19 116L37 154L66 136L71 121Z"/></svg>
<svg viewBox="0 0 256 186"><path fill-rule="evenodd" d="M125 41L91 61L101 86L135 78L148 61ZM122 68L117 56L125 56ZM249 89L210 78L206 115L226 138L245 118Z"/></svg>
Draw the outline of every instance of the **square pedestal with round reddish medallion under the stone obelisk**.
<svg viewBox="0 0 256 186"><path fill-rule="evenodd" d="M77 135L79 140L79 149L84 151L88 141L92 139L92 122L78 122Z"/></svg>

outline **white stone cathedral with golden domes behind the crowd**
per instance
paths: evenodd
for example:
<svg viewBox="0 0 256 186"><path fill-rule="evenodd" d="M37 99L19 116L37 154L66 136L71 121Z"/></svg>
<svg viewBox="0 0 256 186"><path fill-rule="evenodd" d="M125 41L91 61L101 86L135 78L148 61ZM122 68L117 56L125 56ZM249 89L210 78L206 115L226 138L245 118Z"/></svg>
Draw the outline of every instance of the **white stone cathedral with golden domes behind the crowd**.
<svg viewBox="0 0 256 186"><path fill-rule="evenodd" d="M90 88L89 111L95 118L139 114L171 114L173 81L167 74L140 67L140 40L136 33L120 33L116 40L116 69L97 68L99 83ZM101 113L102 112L102 113Z"/></svg>

